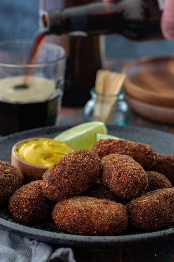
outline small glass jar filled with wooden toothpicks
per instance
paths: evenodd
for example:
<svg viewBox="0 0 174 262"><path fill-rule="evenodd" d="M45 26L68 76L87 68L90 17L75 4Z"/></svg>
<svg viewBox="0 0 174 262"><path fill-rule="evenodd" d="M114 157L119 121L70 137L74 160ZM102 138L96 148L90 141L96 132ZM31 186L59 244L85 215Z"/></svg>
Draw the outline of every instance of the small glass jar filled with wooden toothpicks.
<svg viewBox="0 0 174 262"><path fill-rule="evenodd" d="M115 125L128 123L130 109L121 90L124 79L123 73L102 69L97 71L95 88L91 89L91 99L84 108L86 121L103 121Z"/></svg>

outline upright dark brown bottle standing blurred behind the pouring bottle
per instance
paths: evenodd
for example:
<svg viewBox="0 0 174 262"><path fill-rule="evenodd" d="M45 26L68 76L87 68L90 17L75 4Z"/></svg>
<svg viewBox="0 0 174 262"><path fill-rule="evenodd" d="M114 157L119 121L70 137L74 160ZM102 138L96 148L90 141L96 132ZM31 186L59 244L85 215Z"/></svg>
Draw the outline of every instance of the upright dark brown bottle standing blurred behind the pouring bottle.
<svg viewBox="0 0 174 262"><path fill-rule="evenodd" d="M46 8L65 8L92 3L97 0L46 1ZM41 1L44 2L44 1ZM41 5L43 9L45 5ZM52 32L50 32L52 34ZM67 69L62 99L63 106L84 106L90 99L90 89L95 85L96 72L101 68L99 39L97 35L83 37L62 34L51 36L51 41L62 45L67 51Z"/></svg>

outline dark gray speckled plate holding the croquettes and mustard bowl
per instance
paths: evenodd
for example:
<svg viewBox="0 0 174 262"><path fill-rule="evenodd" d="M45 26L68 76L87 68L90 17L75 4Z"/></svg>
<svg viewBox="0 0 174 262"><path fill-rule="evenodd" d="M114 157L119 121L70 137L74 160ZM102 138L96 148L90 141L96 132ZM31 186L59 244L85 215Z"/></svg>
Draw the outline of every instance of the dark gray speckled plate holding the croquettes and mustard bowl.
<svg viewBox="0 0 174 262"><path fill-rule="evenodd" d="M55 137L68 127L46 127L8 135L0 139L0 159L11 160L11 148L19 140L30 137ZM157 153L173 154L174 135L158 130L141 127L113 127L109 126L109 134L118 137L151 144ZM52 244L69 246L86 250L117 250L136 247L145 243L154 243L174 236L174 226L154 232L139 232L129 228L122 235L95 237L77 236L63 232L53 221L26 225L15 221L7 209L0 209L0 226L16 234L37 239Z"/></svg>

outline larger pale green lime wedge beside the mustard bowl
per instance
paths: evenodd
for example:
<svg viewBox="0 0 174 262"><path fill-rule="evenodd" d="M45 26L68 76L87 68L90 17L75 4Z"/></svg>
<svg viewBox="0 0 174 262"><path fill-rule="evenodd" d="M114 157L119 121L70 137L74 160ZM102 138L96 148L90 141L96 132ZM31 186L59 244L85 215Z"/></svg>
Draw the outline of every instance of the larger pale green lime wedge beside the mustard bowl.
<svg viewBox="0 0 174 262"><path fill-rule="evenodd" d="M54 139L67 143L76 150L86 148L92 149L96 143L96 133L107 133L107 127L104 122L92 121L71 127Z"/></svg>

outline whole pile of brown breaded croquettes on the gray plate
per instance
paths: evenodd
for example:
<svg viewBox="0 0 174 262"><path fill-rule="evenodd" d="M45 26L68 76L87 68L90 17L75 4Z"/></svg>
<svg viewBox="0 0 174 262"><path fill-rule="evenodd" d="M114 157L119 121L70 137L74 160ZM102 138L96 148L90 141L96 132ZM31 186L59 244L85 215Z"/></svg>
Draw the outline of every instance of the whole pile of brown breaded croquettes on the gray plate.
<svg viewBox="0 0 174 262"><path fill-rule="evenodd" d="M23 184L23 173L0 161L0 205L26 223L51 218L71 234L112 236L128 225L159 230L174 223L174 155L151 145L105 139L74 151Z"/></svg>

